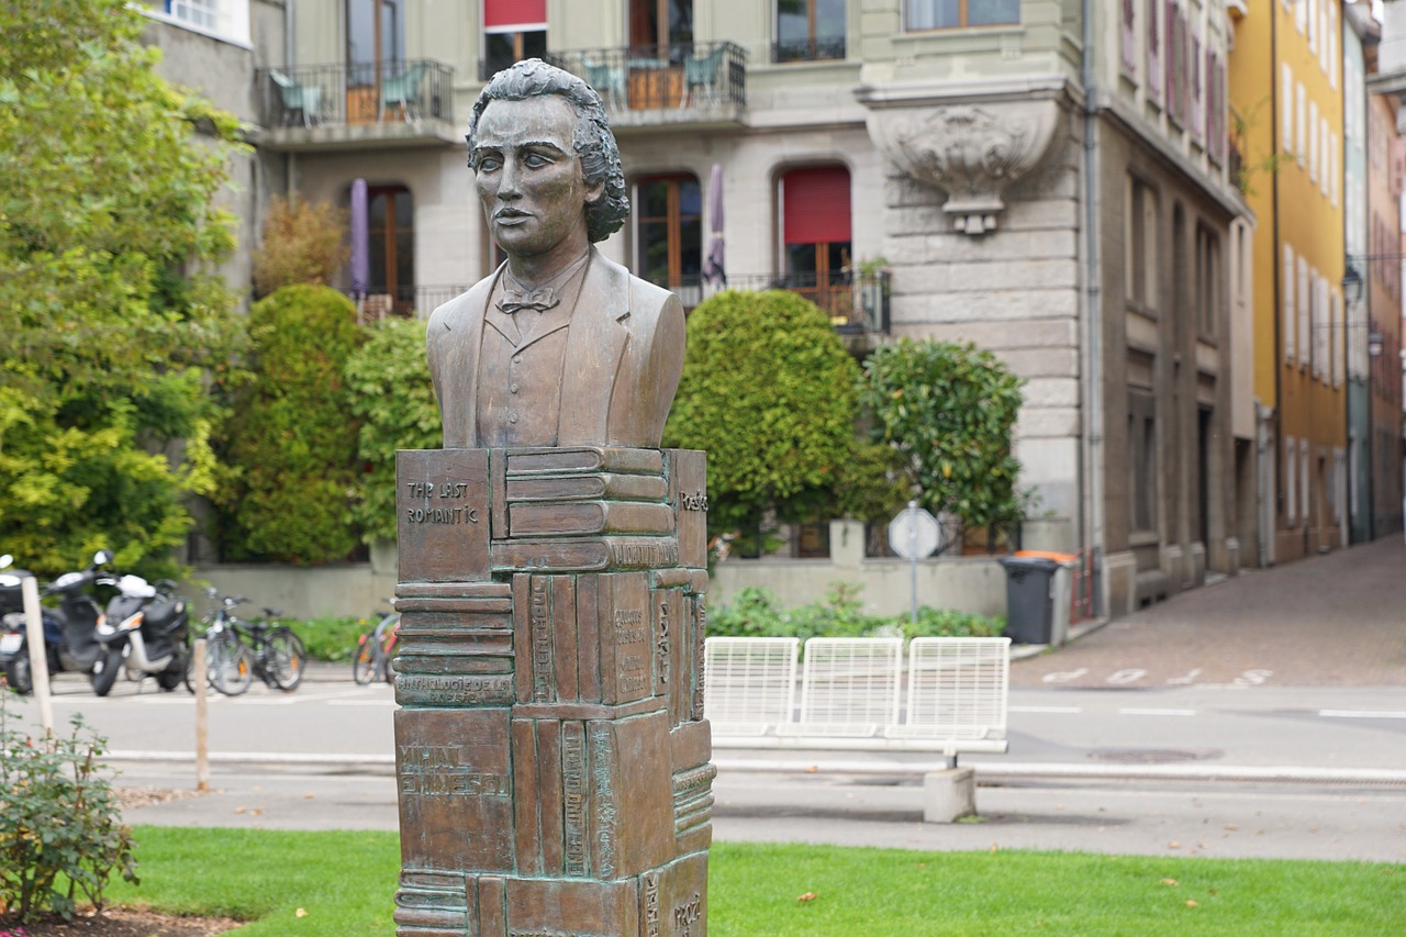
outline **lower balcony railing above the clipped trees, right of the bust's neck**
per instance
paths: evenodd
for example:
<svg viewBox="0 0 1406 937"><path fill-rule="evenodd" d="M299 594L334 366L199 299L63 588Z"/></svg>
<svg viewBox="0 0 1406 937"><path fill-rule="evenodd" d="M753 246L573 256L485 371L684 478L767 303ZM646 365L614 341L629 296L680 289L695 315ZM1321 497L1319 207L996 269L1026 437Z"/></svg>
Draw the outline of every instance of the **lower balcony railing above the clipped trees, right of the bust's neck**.
<svg viewBox="0 0 1406 937"><path fill-rule="evenodd" d="M844 335L884 335L889 332L889 273L834 274L818 281L814 273L747 273L728 276L727 286L714 286L703 277L681 277L662 284L678 294L683 308L693 311L703 300L723 290L789 290L818 305L837 332Z"/></svg>

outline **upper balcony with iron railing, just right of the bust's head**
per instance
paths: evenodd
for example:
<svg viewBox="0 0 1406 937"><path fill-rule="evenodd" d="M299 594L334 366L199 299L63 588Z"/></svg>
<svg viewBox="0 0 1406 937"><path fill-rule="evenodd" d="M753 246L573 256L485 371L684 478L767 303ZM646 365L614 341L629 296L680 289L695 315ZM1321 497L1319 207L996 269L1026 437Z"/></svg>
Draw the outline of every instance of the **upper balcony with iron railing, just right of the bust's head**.
<svg viewBox="0 0 1406 937"><path fill-rule="evenodd" d="M747 52L733 42L576 49L553 52L547 60L596 89L617 132L735 125L747 107Z"/></svg>

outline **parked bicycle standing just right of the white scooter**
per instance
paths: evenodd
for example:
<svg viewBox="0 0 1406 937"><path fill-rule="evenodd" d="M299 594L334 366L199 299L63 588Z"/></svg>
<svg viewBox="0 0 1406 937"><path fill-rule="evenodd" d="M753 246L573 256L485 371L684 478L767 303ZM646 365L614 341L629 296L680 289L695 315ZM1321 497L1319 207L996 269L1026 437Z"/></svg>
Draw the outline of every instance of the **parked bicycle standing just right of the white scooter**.
<svg viewBox="0 0 1406 937"><path fill-rule="evenodd" d="M278 622L278 609L246 622L233 609L249 599L205 589L215 608L205 615L205 673L209 685L226 696L249 689L257 675L269 687L291 692L302 682L308 654L291 627Z"/></svg>

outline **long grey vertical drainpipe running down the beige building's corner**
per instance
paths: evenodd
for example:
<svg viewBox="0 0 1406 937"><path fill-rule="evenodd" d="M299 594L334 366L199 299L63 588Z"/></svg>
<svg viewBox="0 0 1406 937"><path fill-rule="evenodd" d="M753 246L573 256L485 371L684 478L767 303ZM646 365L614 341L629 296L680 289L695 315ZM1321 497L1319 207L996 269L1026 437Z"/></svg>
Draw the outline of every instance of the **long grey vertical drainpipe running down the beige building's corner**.
<svg viewBox="0 0 1406 937"><path fill-rule="evenodd" d="M1095 615L1105 615L1108 602L1104 597L1104 394L1102 394L1102 281L1099 274L1099 181L1098 181L1098 75L1094 69L1094 0L1083 0L1084 48L1080 55L1080 80L1084 84L1084 295L1087 314L1084 317L1083 360L1088 376L1084 381L1084 474L1088 480L1085 499L1085 543L1094 550L1094 601Z"/></svg>

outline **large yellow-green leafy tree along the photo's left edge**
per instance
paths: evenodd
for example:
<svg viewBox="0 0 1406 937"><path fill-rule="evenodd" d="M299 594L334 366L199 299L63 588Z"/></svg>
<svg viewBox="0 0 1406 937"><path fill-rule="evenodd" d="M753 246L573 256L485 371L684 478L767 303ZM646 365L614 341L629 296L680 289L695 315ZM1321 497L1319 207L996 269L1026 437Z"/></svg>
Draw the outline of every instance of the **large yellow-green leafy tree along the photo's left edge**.
<svg viewBox="0 0 1406 937"><path fill-rule="evenodd" d="M155 73L145 24L0 6L0 543L41 574L98 546L174 573L183 501L215 485L204 384L239 329L205 270L238 127Z"/></svg>

